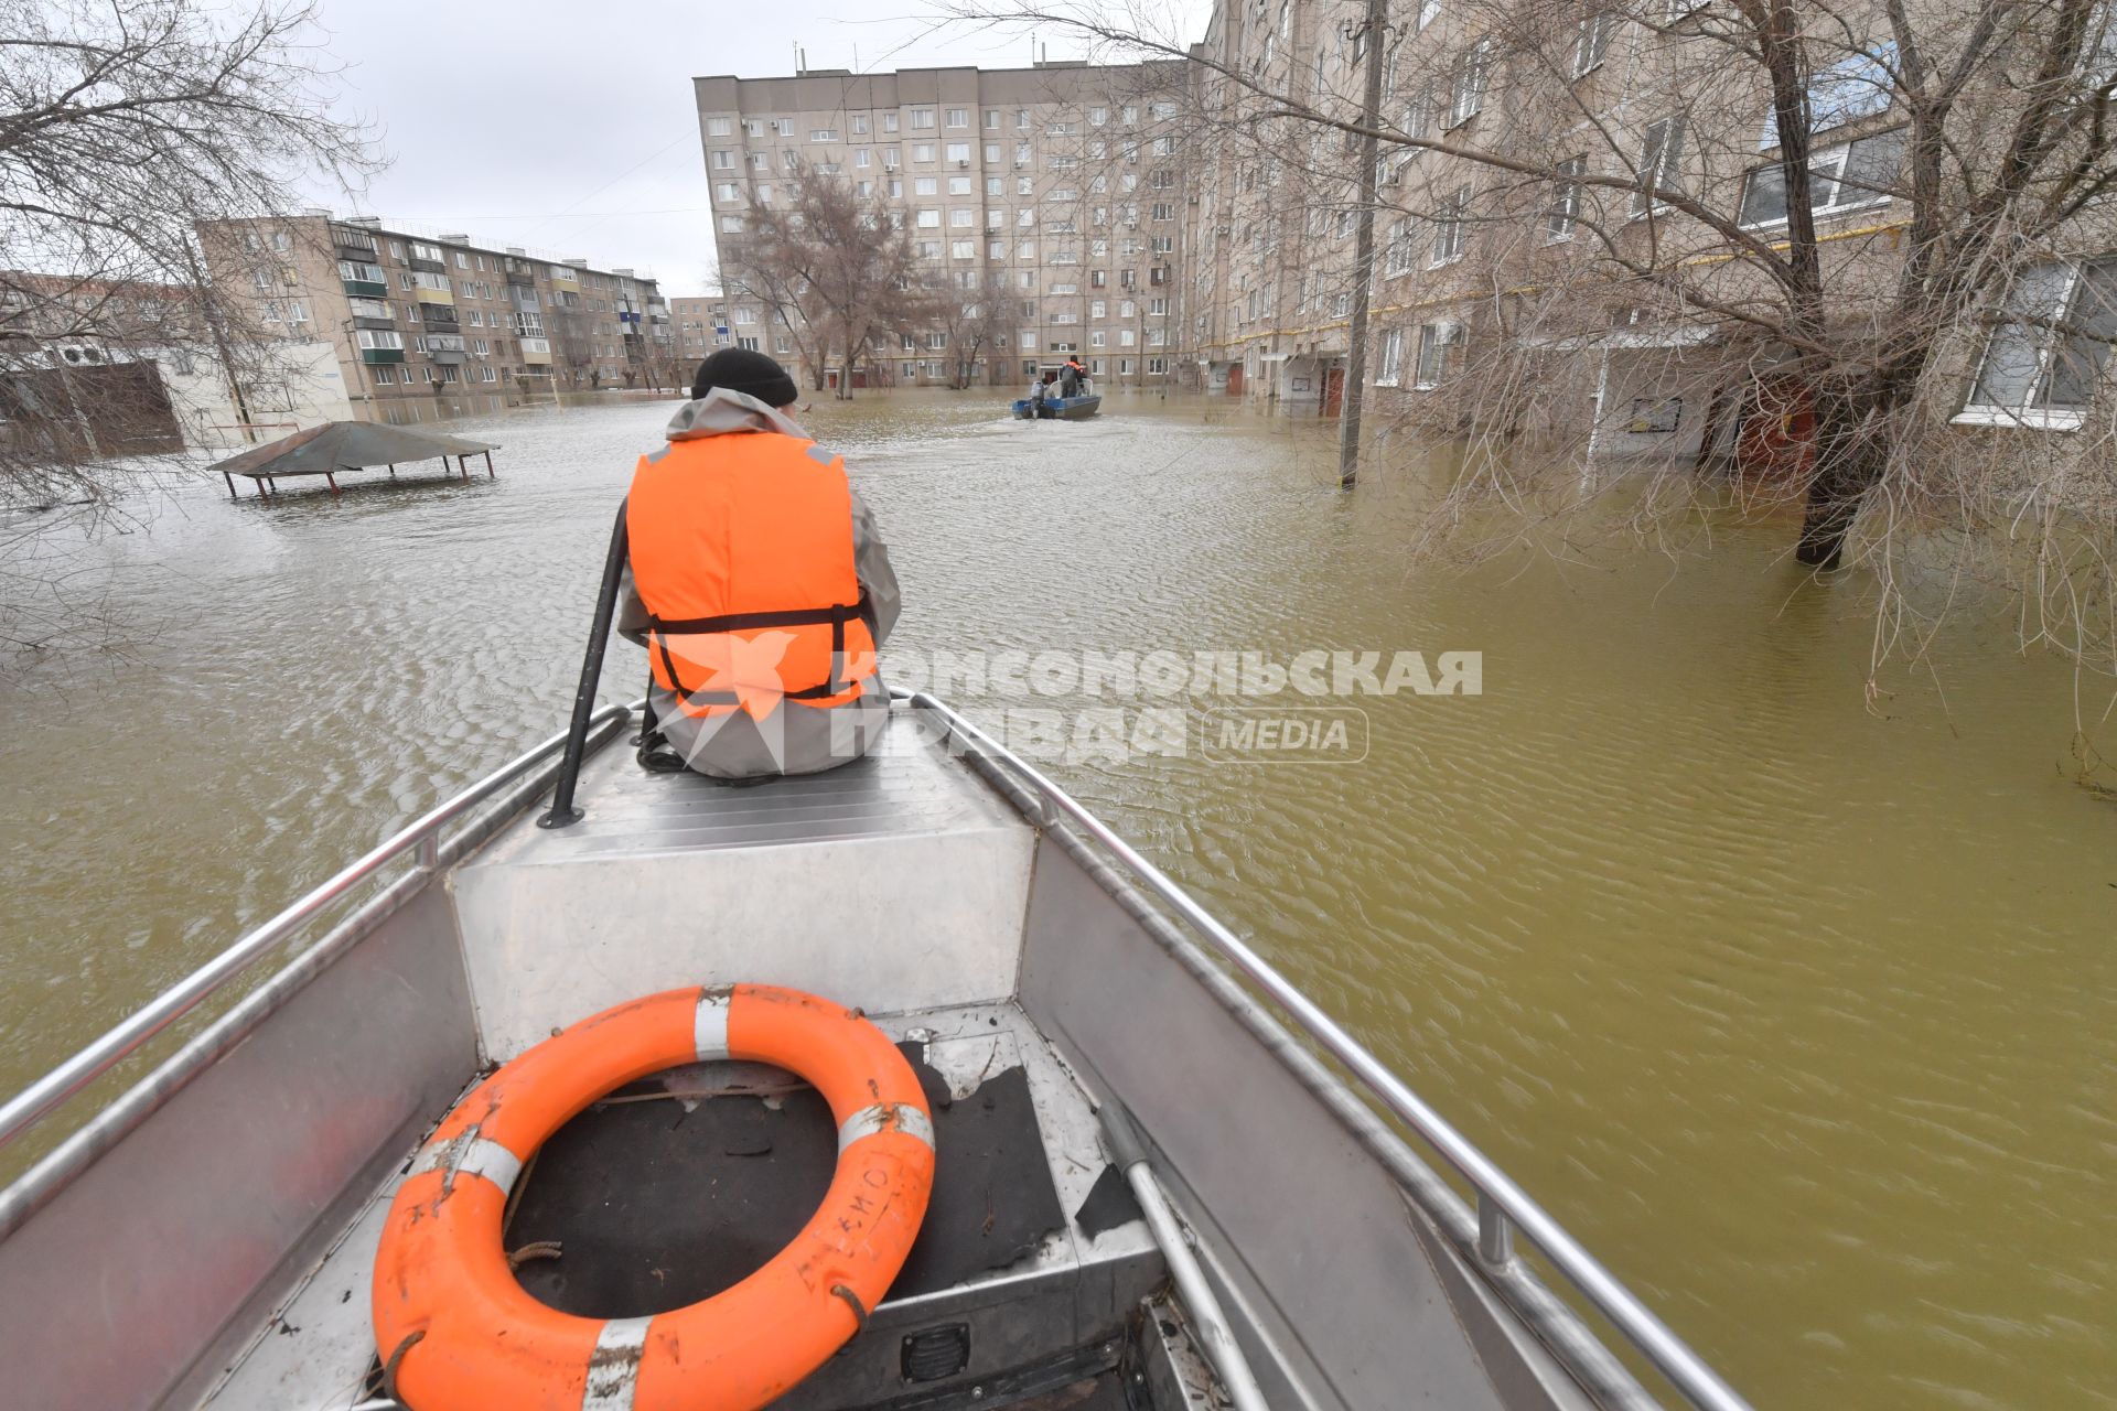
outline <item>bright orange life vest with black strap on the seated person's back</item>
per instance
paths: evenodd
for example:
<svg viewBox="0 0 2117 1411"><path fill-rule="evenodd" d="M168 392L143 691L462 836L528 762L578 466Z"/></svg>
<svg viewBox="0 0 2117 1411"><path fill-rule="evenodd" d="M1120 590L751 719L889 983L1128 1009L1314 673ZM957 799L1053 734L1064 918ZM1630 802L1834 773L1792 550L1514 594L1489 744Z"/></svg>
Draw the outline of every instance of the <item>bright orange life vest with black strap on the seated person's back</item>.
<svg viewBox="0 0 2117 1411"><path fill-rule="evenodd" d="M838 457L779 432L669 442L639 457L625 531L654 681L686 715L860 698L874 637Z"/></svg>

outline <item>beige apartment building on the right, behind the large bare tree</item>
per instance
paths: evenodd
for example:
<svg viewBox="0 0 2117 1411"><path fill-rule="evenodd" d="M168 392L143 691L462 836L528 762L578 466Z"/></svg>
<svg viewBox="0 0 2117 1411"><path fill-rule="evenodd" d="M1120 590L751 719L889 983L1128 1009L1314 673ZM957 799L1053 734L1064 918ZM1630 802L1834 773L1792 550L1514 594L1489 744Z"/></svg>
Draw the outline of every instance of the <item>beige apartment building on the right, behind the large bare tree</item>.
<svg viewBox="0 0 2117 1411"><path fill-rule="evenodd" d="M1761 63L1715 0L1647 8L1537 0L1391 0L1374 258L1355 262L1359 142L1266 110L1357 123L1359 0L1219 0L1200 51L1183 338L1202 385L1336 410L1351 315L1372 313L1370 406L1461 429L1509 381L1509 434L1590 427L1588 455L1696 455L1736 436L1806 455L1806 391L1774 389L1787 294L1770 252L1791 239L1780 127ZM1910 252L1907 66L1899 34L1948 36L1948 13L1829 6L1810 36L1806 112L1819 281L1835 347L1907 336L1893 292ZM2037 21L2045 23L2045 21ZM1943 182L1990 190L2001 144L2053 40L1992 51L1946 133ZM2096 6L2070 61L2083 104L2117 78L2117 17ZM1245 83L1230 83L1234 70ZM2064 70L2060 70L2064 72ZM2064 161L2102 127L2070 129ZM1467 150L1499 161L1480 161ZM1520 163L1507 171L1505 161ZM2064 161L2020 207L2026 226ZM2098 161L2106 161L2098 159ZM1979 165L1982 163L1982 165ZM2089 161L2081 169L2098 169ZM1937 218L1950 220L1946 199ZM1958 427L2075 429L2117 328L2117 220L2102 203L1994 245L1979 303L1952 317L1922 396ZM1749 245L1744 245L1749 241ZM1994 319L2005 307L2009 317ZM1774 322L1776 319L1776 322ZM2051 326L2066 326L2053 330ZM1924 336L1924 330L1910 330ZM1948 391L1939 391L1946 385Z"/></svg>

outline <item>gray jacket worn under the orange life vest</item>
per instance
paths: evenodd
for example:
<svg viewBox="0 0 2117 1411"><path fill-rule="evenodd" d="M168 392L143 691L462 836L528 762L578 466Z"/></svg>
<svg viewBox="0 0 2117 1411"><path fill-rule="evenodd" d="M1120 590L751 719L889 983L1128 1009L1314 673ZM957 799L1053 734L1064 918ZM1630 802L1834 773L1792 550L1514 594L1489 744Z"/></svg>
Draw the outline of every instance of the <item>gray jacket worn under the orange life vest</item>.
<svg viewBox="0 0 2117 1411"><path fill-rule="evenodd" d="M779 432L815 440L785 413L741 391L716 387L696 402L686 402L669 419L669 440L703 440L707 436L741 436L745 432ZM874 529L874 514L860 491L853 491L853 571L868 599L868 630L874 645L889 639L898 624L902 599L898 575L889 567L889 548ZM618 633L646 645L648 609L633 588L633 569L625 565L618 601ZM648 707L669 740L692 770L713 778L756 778L760 774L815 774L868 753L889 719L889 688L876 671L857 700L836 707L779 702L762 719L747 711L716 717L692 717L677 709L675 694L648 677Z"/></svg>

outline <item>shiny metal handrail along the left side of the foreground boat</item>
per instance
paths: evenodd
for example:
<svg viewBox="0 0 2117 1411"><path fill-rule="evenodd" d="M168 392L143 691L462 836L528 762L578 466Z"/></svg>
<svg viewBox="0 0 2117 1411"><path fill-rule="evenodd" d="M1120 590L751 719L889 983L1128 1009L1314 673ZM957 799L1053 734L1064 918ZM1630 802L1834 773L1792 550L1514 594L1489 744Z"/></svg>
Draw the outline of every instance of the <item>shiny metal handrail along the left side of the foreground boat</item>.
<svg viewBox="0 0 2117 1411"><path fill-rule="evenodd" d="M608 704L591 717L591 726L618 719L639 709L633 704ZM343 897L347 891L375 876L383 865L394 861L398 855L417 848L419 867L432 869L438 857L438 840L442 825L462 817L466 810L483 804L493 793L512 783L538 759L550 751L565 745L567 732L550 736L542 745L514 755L497 770L470 785L462 793L436 804L426 810L396 833L375 844L366 855L354 861L349 867L341 869L322 886L315 886L294 905L286 908L263 927L241 937L218 956L195 969L184 979L176 982L142 1009L127 1015L121 1024L110 1028L102 1039L80 1049L64 1064L30 1083L19 1094L0 1104L0 1149L23 1136L38 1121L49 1117L53 1108L64 1104L68 1098L78 1094L83 1087L110 1073L114 1066L125 1062L133 1051L148 1043L155 1034L176 1024L180 1018L197 1009L201 1003L212 998L216 990L227 986L231 979L256 965L265 954L292 937L303 924L313 920L318 912Z"/></svg>

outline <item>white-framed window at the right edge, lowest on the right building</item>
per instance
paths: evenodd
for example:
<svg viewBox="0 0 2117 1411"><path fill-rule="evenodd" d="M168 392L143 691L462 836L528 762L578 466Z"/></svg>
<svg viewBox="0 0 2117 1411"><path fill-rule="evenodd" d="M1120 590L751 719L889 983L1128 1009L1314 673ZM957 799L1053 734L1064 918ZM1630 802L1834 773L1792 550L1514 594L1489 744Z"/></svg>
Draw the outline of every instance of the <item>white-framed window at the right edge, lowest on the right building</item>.
<svg viewBox="0 0 2117 1411"><path fill-rule="evenodd" d="M2117 338L2117 256L2030 264L2007 313L1956 421L2079 429Z"/></svg>

